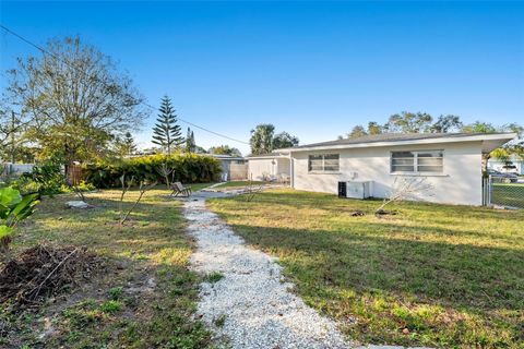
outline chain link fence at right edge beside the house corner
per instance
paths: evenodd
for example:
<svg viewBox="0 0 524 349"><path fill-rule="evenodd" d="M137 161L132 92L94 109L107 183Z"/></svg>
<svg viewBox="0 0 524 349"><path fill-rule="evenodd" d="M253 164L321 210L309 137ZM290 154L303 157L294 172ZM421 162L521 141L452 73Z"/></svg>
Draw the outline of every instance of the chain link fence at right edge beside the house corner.
<svg viewBox="0 0 524 349"><path fill-rule="evenodd" d="M524 208L524 181L490 176L485 180L485 204Z"/></svg>

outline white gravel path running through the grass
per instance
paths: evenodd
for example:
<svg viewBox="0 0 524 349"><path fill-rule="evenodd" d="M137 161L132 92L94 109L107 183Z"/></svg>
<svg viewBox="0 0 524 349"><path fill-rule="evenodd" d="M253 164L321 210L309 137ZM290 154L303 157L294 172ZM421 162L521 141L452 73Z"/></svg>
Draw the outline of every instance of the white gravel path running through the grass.
<svg viewBox="0 0 524 349"><path fill-rule="evenodd" d="M205 208L205 197L217 195L199 193L184 202L188 229L198 243L193 268L224 275L201 285L198 313L204 322L233 348L349 348L334 322L288 291L293 285L283 281L274 258L248 248Z"/></svg>

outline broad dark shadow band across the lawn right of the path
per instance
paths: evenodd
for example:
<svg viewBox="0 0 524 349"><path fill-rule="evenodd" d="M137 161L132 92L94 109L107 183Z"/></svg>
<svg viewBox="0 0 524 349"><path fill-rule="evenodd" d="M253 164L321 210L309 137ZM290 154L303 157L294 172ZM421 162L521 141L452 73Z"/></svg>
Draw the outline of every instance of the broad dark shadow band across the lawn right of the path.
<svg viewBox="0 0 524 349"><path fill-rule="evenodd" d="M360 232L303 231L235 224L233 228L248 243L279 256L290 269L303 269L311 276L309 281L326 287L413 294L424 302L456 309L524 309L522 250ZM373 231L383 229L383 226L362 222L354 228ZM422 234L449 232L434 228L413 229Z"/></svg>

